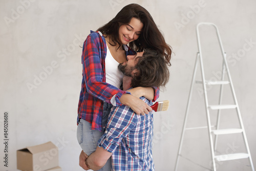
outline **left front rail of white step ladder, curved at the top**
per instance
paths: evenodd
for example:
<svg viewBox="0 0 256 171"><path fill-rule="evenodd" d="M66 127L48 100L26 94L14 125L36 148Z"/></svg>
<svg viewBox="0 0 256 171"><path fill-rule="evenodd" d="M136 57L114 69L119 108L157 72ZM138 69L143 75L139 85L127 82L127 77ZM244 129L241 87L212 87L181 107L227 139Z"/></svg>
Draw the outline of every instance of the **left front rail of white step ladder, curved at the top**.
<svg viewBox="0 0 256 171"><path fill-rule="evenodd" d="M209 25L210 23L205 23ZM206 84L205 84L205 75L204 75L204 67L203 67L203 55L201 50L201 43L200 43L200 34L199 34L199 26L202 25L202 23L199 23L197 25L197 44L198 44L198 51L199 51L199 59L200 59L200 66L201 66L201 76L203 81L203 92L204 92L204 102L205 102L205 111L206 111L206 117L207 117L207 125L208 125L208 135L209 135L209 141L210 141L210 152L211 152L211 158L212 158L212 167L214 168L214 171L216 171L216 163L215 163L215 153L214 153L214 144L212 140L211 135L211 123L210 123L210 113L209 113L209 104L207 99L207 90L206 90Z"/></svg>

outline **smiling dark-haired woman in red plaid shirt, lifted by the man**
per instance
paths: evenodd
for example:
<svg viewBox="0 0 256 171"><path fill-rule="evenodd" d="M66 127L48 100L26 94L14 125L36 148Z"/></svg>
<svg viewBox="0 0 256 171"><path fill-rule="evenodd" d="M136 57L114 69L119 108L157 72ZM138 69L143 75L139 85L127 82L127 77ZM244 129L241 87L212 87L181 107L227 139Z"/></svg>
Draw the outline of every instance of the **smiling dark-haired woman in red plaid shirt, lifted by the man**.
<svg viewBox="0 0 256 171"><path fill-rule="evenodd" d="M152 111L139 97L156 100L158 88L135 88L122 91L119 63L127 55L151 48L159 51L170 66L172 51L166 44L150 13L137 4L125 6L108 24L100 27L84 41L82 50L83 78L78 103L77 139L83 151L96 150L112 105L129 105L137 114ZM81 152L82 153L82 152ZM101 170L110 170L111 161Z"/></svg>

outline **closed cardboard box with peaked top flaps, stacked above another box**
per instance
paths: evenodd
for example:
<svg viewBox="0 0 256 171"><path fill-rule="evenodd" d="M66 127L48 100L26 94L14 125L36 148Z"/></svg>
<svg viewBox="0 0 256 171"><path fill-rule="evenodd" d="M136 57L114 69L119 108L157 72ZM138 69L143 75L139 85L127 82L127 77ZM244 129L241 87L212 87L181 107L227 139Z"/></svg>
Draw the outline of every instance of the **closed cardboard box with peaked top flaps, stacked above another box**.
<svg viewBox="0 0 256 171"><path fill-rule="evenodd" d="M58 165L58 147L50 141L17 150L17 169L43 171Z"/></svg>

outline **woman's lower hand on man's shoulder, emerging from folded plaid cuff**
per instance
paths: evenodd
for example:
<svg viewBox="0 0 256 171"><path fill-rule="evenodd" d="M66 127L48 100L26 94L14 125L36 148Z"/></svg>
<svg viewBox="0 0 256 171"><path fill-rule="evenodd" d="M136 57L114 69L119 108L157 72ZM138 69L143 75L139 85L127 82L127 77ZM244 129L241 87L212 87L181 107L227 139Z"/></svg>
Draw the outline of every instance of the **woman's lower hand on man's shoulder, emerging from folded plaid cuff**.
<svg viewBox="0 0 256 171"><path fill-rule="evenodd" d="M152 111L151 106L149 106L147 103L145 103L143 100L141 100L138 97L135 97L130 94L123 94L119 98L120 102L122 104L130 106L130 108L137 114L137 115L145 115Z"/></svg>

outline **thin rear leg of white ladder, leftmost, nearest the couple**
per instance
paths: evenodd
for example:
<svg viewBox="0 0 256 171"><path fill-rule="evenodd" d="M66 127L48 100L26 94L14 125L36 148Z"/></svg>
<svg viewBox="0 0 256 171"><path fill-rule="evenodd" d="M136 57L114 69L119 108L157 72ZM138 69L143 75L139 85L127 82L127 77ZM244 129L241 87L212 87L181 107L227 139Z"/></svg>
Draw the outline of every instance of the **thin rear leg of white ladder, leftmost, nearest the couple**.
<svg viewBox="0 0 256 171"><path fill-rule="evenodd" d="M179 162L180 155L181 155L181 148L182 148L183 138L184 138L184 134L185 134L185 130L186 130L187 117L188 117L188 109L189 109L189 106L190 106L191 95L192 95L193 88L194 88L194 81L196 79L196 71L197 71L197 67L198 67L198 59L199 59L199 53L197 53L195 67L194 67L194 71L193 71L193 77L192 77L191 84L190 84L190 90L189 90L189 95L188 95L188 100L187 100L185 119L184 119L184 123L183 123L183 128L182 128L182 133L181 133L181 138L180 138L180 145L179 145L177 159L176 159L176 163L175 163L175 169L174 169L175 171L177 171L178 162Z"/></svg>

